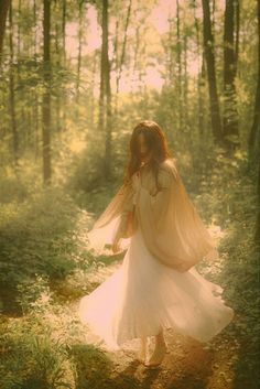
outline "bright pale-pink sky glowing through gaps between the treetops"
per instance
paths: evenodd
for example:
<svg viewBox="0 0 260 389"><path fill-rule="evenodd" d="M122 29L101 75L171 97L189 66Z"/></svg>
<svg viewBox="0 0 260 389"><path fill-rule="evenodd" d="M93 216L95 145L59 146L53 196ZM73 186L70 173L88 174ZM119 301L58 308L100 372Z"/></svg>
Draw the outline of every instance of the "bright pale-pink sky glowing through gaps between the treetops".
<svg viewBox="0 0 260 389"><path fill-rule="evenodd" d="M180 0L180 4L185 6L184 0ZM219 0L217 3L217 9L221 12L225 8L225 1ZM176 2L173 0L159 0L158 4L151 10L150 15L147 18L147 23L149 26L149 33L145 35L145 40L148 39L147 43L147 56L144 61L149 62L147 68L144 68L144 74L142 76L143 83L147 84L148 87L154 87L158 90L161 89L162 85L164 84L164 79L162 78L161 74L165 73L165 65L156 63L156 51L159 51L158 57L162 58L164 55L164 51L161 44L161 35L167 34L170 30L170 18L176 17ZM202 19L203 11L202 7L197 7L196 9L196 17ZM93 51L100 48L101 46L101 28L97 22L97 11L96 8L91 4L86 6L86 20L87 20L87 28L86 28L86 35L84 36L84 43L82 45L82 55L89 55ZM113 43L111 40L111 35L115 33L111 29L115 25L115 20L110 18L110 42L109 42L109 58L112 58L113 55ZM175 22L174 22L175 23ZM128 31L129 40L132 39L134 42L136 35L136 26L130 25ZM196 56L196 47L191 47L191 42L188 45L192 51L187 52L187 72L189 76L195 76L199 68L201 68L201 58ZM131 47L132 48L132 47ZM67 57L72 60L76 64L77 55L78 55L78 23L69 22L66 26L66 52ZM193 53L192 53L193 52ZM151 61L154 62L154 66L151 66ZM91 64L90 64L91 66ZM132 65L131 65L132 66ZM90 69L83 66L82 74L88 78ZM99 75L98 75L99 77ZM131 68L123 68L121 79L120 79L120 91L121 93L129 93L129 91L137 91L140 87L139 75L134 74ZM116 74L111 72L111 86L115 90L116 87ZM99 79L96 80L94 87L94 94L98 95L99 93Z"/></svg>

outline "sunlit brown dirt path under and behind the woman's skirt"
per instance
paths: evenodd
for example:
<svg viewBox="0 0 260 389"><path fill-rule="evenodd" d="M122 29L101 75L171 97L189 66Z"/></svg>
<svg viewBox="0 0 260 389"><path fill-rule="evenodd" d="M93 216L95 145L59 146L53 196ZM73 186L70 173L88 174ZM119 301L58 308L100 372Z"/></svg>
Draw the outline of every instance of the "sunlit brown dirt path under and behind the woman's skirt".
<svg viewBox="0 0 260 389"><path fill-rule="evenodd" d="M122 260L102 267L88 275L88 291L97 288L112 274ZM64 285L65 287L65 285ZM69 290L58 293L66 295ZM75 314L78 300L72 302ZM234 321L237 320L235 315ZM95 335L86 327L86 343L75 348L77 359L78 388L97 389L231 389L235 388L235 364L239 358L239 342L228 334L226 328L207 344L189 336L176 333L172 328L164 331L169 352L159 367L145 367L137 359L139 339L123 344L120 350L108 350L100 343L95 345ZM95 345L89 346L89 345ZM154 337L150 337L149 353L154 347Z"/></svg>

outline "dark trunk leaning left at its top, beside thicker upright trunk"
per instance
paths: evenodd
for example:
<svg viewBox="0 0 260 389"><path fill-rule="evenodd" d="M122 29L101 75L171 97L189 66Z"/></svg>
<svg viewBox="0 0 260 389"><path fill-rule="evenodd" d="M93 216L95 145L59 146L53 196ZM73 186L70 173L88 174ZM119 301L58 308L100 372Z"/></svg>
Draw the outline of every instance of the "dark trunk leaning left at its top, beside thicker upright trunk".
<svg viewBox="0 0 260 389"><path fill-rule="evenodd" d="M210 25L209 0L203 0L203 34L204 34L204 51L207 64L207 78L209 88L210 118L213 136L216 141L223 140L220 110L218 102L215 55L214 55L214 37Z"/></svg>

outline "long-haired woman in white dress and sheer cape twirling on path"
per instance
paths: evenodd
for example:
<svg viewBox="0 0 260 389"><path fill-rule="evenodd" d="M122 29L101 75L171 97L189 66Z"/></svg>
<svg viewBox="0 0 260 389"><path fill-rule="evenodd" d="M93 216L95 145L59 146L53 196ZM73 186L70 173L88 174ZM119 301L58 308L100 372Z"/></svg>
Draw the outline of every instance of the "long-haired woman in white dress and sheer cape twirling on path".
<svg viewBox="0 0 260 389"><path fill-rule="evenodd" d="M218 251L154 121L134 127L124 182L88 238L97 252L106 244L113 253L127 249L120 268L79 304L82 322L108 347L140 338L139 360L158 366L167 349L164 328L207 342L232 320L223 288L194 268ZM148 355L150 336L155 346Z"/></svg>

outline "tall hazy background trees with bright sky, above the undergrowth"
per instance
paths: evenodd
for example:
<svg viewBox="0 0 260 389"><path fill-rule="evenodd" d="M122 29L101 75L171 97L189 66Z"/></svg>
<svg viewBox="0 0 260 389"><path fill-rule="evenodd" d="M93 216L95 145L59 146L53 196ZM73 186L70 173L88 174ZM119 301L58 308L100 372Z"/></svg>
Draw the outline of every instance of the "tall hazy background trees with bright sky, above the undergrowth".
<svg viewBox="0 0 260 389"><path fill-rule="evenodd" d="M2 166L12 161L18 172L19 161L33 159L44 182L52 170L54 182L56 173L66 180L61 155L74 144L73 160L89 148L100 158L96 179L112 177L131 128L148 117L193 161L208 142L229 156L238 144L251 150L259 132L246 126L259 101L256 6L2 1Z"/></svg>

